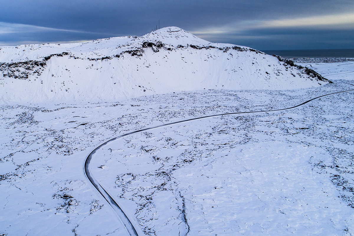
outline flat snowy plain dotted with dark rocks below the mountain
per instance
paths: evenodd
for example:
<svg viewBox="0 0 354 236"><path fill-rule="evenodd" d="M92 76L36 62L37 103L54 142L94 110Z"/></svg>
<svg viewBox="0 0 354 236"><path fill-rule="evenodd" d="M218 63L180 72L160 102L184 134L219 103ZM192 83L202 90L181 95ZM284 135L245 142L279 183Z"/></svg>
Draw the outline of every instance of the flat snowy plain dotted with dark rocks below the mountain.
<svg viewBox="0 0 354 236"><path fill-rule="evenodd" d="M311 66L354 84L350 62ZM144 127L292 107L349 89L326 84L2 105L0 235L126 235L83 170L99 144ZM136 133L96 152L92 171L141 235L353 235L353 98L339 93L287 111Z"/></svg>

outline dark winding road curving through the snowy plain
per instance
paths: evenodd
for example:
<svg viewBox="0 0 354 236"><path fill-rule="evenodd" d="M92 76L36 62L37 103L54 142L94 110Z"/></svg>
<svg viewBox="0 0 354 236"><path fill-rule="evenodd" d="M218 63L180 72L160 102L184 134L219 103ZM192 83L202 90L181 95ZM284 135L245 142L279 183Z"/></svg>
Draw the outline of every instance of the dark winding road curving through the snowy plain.
<svg viewBox="0 0 354 236"><path fill-rule="evenodd" d="M336 82L339 83L339 82ZM348 83L340 83L340 84L348 84ZM348 84L348 85L352 85L353 84ZM101 145L99 145L97 148L95 148L86 158L85 161L85 165L84 165L84 171L85 174L87 176L87 178L90 180L90 182L92 183L93 186L95 186L95 188L98 190L98 192L105 198L105 200L107 200L107 202L109 203L110 206L112 206L112 208L114 209L114 211L118 214L118 217L120 218L120 220L122 221L122 223L125 225L128 234L130 236L138 236L137 231L135 230L133 224L131 223L131 221L129 220L129 218L127 217L127 215L122 211L122 209L119 207L118 203L113 199L112 196L110 196L106 190L104 190L104 188L101 186L101 184L99 184L99 181L97 181L95 179L95 177L92 174L92 170L90 168L90 161L92 159L93 154L95 154L95 152L102 148L104 145L106 145L109 142L112 142L113 140L116 140L118 138L124 137L124 136L128 136L130 134L133 133L138 133L138 132L142 132L145 130L149 130L149 129L154 129L154 128L158 128L158 127L163 127L163 126L167 126L167 125L173 125L173 124L177 124L177 123L182 123L182 122L186 122L186 121L192 121L192 120L198 120L198 119L202 119L202 118L207 118L207 117L214 117L214 116L222 116L222 115L236 115L236 114L248 114L248 113L262 113L262 112L271 112L271 111L284 111L284 110L289 110L289 109L293 109L293 108L297 108L300 107L308 102L311 102L312 100L321 98L321 97L325 97L325 96L329 96L332 94L336 94L336 93L344 93L344 92L350 92L350 91L354 91L354 89L352 90L345 90L345 91L340 91L340 92L335 92L335 93L328 93L328 94L324 94L315 98L312 98L310 100L307 100L306 102L303 102L301 104L298 104L296 106L293 107L289 107L289 108L283 108L283 109L276 109L276 110L264 110L264 111L245 111L245 112L234 112L234 113L224 113L224 114L217 114L217 115L210 115L210 116L202 116L202 117L196 117L196 118L192 118L192 119L188 119L188 120L182 120L182 121L177 121L177 122L172 122L172 123L168 123L168 124L164 124L164 125L158 125L158 126L154 126L154 127L150 127L150 128L144 128L144 129L139 129L137 131L133 131L130 133L126 133L126 134L122 134L121 136L112 138L110 140L108 140L105 143L102 143Z"/></svg>

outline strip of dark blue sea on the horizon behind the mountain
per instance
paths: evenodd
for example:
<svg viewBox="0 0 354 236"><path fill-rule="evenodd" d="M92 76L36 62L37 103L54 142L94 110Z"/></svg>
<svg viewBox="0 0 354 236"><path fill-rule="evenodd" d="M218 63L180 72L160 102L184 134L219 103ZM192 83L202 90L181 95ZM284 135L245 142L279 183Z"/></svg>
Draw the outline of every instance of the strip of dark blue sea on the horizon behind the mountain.
<svg viewBox="0 0 354 236"><path fill-rule="evenodd" d="M354 58L354 49L263 50L284 58Z"/></svg>

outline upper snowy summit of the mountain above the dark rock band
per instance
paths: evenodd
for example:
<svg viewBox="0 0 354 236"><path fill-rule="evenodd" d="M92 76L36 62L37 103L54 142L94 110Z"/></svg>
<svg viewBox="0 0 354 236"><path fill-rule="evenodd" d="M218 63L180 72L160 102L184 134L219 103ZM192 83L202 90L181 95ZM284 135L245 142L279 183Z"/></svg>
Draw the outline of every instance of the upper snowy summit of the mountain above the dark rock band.
<svg viewBox="0 0 354 236"><path fill-rule="evenodd" d="M93 41L70 44L29 44L19 46L0 47L0 62L13 63L27 60L40 60L53 54L68 53L79 58L102 58L112 57L127 51L143 51L144 47L159 44L158 47L187 47L194 45L198 47L225 47L234 46L227 44L215 44L200 39L178 27L165 27L141 37L121 36L107 39L96 39ZM245 47L246 48L246 47ZM157 52L157 49L154 49Z"/></svg>

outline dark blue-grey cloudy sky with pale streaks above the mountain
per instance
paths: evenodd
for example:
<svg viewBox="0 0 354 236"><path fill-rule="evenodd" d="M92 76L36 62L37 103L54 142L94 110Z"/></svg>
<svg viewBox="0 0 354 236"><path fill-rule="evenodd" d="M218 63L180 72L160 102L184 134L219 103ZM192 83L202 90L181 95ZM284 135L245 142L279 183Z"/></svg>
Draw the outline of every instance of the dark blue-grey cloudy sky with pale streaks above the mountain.
<svg viewBox="0 0 354 236"><path fill-rule="evenodd" d="M141 36L159 20L258 50L354 48L354 0L0 0L0 45Z"/></svg>

